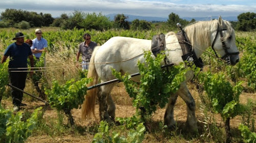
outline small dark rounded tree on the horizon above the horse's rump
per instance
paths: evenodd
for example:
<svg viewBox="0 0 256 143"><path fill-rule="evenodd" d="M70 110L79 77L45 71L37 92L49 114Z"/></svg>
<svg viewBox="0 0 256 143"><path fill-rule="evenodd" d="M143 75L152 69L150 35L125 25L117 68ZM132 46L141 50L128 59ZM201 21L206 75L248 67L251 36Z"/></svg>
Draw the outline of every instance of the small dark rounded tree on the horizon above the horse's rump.
<svg viewBox="0 0 256 143"><path fill-rule="evenodd" d="M129 18L129 17L124 16L124 14L117 14L114 17L115 26L118 28L124 28L124 30L129 30L130 29L129 21L125 20L127 18Z"/></svg>

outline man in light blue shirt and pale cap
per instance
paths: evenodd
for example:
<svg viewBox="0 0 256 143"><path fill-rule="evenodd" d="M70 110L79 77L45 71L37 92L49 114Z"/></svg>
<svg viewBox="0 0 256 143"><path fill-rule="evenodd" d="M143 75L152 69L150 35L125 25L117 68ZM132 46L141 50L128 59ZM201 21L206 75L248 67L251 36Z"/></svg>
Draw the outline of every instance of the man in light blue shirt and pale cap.
<svg viewBox="0 0 256 143"><path fill-rule="evenodd" d="M47 40L42 38L42 31L40 29L35 30L36 38L32 40L33 44L31 46L31 51L35 55L35 58L38 59L48 46Z"/></svg>

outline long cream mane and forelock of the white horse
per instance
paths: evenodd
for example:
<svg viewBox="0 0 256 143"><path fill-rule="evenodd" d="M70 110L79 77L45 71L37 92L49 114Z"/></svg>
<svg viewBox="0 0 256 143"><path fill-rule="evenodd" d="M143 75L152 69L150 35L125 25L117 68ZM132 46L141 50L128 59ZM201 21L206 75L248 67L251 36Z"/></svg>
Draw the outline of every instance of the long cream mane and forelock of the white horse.
<svg viewBox="0 0 256 143"><path fill-rule="evenodd" d="M230 35L234 34L234 30L231 26L231 23L223 20L225 23L225 28L227 29L227 34L223 37L223 40L226 40ZM217 24L218 20L211 20L211 21L198 21L194 22L190 25L187 25L184 28L187 37L189 38L191 45L198 47L198 45L203 47L208 47L211 45L210 43L210 32L217 31ZM208 41L205 42L205 41Z"/></svg>

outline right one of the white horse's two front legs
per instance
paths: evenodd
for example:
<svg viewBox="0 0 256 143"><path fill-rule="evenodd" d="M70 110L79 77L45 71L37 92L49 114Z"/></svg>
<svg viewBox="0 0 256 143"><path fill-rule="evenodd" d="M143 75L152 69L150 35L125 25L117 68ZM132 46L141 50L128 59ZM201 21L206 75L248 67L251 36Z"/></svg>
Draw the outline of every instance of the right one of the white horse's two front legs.
<svg viewBox="0 0 256 143"><path fill-rule="evenodd" d="M180 89L178 90L178 95L185 101L187 105L187 121L190 131L197 132L197 119L196 119L196 103L189 90L187 89L186 84L181 84Z"/></svg>

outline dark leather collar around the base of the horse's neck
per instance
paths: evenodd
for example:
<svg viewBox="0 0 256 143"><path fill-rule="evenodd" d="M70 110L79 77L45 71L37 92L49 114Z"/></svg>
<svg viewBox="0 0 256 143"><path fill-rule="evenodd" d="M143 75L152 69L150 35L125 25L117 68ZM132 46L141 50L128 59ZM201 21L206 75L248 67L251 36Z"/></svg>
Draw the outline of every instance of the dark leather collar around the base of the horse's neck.
<svg viewBox="0 0 256 143"><path fill-rule="evenodd" d="M181 30L176 34L180 43L183 55L181 56L183 61L193 62L197 67L203 68L204 64L201 58L197 58L195 51L193 50L186 33Z"/></svg>

